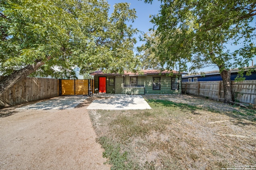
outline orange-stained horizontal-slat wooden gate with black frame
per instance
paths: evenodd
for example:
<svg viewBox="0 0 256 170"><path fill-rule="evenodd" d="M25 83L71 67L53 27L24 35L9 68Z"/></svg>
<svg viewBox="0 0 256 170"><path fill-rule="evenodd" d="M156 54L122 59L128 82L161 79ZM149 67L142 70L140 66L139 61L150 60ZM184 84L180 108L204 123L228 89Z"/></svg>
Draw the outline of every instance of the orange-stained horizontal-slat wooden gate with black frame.
<svg viewBox="0 0 256 170"><path fill-rule="evenodd" d="M59 80L60 95L91 95L94 94L94 80Z"/></svg>

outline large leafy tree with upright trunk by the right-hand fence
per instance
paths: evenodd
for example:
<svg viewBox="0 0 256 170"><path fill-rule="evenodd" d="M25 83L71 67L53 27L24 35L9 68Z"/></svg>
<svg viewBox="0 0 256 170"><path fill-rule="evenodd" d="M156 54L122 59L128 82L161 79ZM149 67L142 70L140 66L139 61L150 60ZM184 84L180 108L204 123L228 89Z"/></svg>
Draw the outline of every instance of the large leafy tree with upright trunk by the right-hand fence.
<svg viewBox="0 0 256 170"><path fill-rule="evenodd" d="M152 2L152 0L145 0ZM215 65L232 101L230 69L249 65L256 55L255 0L161 0L152 17L159 42L156 55L167 68L184 70ZM241 75L241 74L239 74Z"/></svg>

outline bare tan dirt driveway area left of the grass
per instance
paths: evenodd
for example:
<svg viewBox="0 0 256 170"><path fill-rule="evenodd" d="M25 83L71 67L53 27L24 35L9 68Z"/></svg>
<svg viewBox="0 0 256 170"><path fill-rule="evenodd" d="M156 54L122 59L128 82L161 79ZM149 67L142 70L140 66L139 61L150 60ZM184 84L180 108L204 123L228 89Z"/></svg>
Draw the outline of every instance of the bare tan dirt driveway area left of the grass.
<svg viewBox="0 0 256 170"><path fill-rule="evenodd" d="M86 110L90 100L74 109L0 109L0 169L110 169Z"/></svg>

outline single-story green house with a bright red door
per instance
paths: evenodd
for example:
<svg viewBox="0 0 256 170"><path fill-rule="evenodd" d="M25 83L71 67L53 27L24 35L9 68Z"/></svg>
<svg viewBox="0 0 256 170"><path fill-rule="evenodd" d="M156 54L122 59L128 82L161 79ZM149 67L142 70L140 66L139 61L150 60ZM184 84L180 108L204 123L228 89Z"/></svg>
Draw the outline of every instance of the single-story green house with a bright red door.
<svg viewBox="0 0 256 170"><path fill-rule="evenodd" d="M181 74L177 71L141 70L142 74L92 72L95 88L100 93L110 94L181 94Z"/></svg>

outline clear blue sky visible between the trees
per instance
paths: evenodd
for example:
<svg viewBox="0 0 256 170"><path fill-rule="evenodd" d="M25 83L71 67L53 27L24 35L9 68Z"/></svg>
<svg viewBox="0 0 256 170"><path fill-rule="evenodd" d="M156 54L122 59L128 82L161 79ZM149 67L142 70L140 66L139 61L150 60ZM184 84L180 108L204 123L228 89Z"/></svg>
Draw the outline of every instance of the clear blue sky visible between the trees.
<svg viewBox="0 0 256 170"><path fill-rule="evenodd" d="M130 4L130 8L135 8L137 12L137 17L134 23L130 23L133 25L134 28L137 28L140 31L143 31L144 33L148 32L150 28L152 28L154 25L150 22L150 15L158 14L160 11L160 2L158 0L154 0L152 4L146 4L144 3L144 0L108 0L108 4L110 4L110 14L113 12L113 5L116 3L121 2L127 2ZM254 18L253 24L256 23L256 18ZM144 42L139 41L138 37L140 34L137 35L137 43L135 46L140 46ZM228 46L230 48L234 48L234 46ZM253 63L256 64L256 57L253 58ZM249 63L250 65L252 63ZM188 63L188 67L190 67L191 64ZM202 70L198 71L212 71L212 70L218 70L217 66L209 66Z"/></svg>

